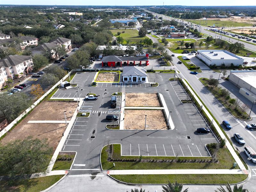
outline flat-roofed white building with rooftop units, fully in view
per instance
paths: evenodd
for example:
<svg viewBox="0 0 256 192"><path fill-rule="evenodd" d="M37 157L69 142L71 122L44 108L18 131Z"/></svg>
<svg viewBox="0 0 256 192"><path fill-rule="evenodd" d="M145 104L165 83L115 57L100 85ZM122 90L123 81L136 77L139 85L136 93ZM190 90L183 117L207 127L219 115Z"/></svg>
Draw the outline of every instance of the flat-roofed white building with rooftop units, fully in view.
<svg viewBox="0 0 256 192"><path fill-rule="evenodd" d="M221 66L234 66L243 65L244 59L235 55L234 53L228 52L226 50L197 50L196 57L203 60L206 65L216 65Z"/></svg>

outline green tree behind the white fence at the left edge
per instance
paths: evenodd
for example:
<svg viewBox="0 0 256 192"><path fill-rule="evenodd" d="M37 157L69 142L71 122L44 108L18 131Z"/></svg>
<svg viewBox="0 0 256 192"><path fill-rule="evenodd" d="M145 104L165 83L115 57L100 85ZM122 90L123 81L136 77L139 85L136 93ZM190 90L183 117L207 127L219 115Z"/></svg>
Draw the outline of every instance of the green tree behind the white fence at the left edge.
<svg viewBox="0 0 256 192"><path fill-rule="evenodd" d="M0 112L7 119L8 123L12 122L32 104L32 100L25 93L13 94L10 97L6 92L3 92L0 94L0 100Z"/></svg>

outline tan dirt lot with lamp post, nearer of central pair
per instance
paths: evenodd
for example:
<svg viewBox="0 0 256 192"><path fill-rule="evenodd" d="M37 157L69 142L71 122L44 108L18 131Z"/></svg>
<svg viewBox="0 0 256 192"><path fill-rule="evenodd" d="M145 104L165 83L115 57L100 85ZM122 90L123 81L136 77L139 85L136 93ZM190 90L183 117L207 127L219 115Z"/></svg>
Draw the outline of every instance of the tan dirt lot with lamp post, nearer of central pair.
<svg viewBox="0 0 256 192"><path fill-rule="evenodd" d="M124 110L124 129L167 130L163 110Z"/></svg>

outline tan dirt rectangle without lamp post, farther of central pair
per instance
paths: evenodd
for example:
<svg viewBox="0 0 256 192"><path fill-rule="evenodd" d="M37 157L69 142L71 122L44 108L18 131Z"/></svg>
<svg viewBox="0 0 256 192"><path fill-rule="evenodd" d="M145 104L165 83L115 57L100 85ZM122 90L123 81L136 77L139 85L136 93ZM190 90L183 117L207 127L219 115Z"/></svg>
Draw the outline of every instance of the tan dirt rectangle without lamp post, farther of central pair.
<svg viewBox="0 0 256 192"><path fill-rule="evenodd" d="M157 93L125 93L126 107L161 107Z"/></svg>

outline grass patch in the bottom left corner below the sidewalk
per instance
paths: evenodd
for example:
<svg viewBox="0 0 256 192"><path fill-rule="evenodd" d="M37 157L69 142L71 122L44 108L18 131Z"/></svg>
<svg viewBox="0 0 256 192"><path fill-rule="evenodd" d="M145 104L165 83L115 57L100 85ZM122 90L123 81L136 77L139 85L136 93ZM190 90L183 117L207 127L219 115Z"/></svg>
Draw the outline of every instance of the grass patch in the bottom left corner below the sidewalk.
<svg viewBox="0 0 256 192"><path fill-rule="evenodd" d="M0 181L0 191L39 192L49 188L64 175L52 175L28 180Z"/></svg>

